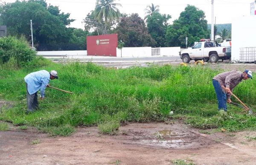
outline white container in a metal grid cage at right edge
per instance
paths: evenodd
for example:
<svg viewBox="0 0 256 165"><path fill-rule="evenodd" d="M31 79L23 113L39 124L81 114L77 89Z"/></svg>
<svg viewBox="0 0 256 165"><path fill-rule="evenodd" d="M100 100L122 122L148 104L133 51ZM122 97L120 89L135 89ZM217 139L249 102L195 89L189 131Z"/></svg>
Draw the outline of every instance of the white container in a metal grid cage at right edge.
<svg viewBox="0 0 256 165"><path fill-rule="evenodd" d="M240 48L239 60L241 62L254 62L256 61L256 47Z"/></svg>

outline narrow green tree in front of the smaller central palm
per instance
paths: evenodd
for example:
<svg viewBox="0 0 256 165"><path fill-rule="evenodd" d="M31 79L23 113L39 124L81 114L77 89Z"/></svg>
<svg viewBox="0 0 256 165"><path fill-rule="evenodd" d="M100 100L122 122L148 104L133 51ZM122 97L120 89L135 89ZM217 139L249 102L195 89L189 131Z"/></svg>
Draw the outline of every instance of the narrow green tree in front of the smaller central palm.
<svg viewBox="0 0 256 165"><path fill-rule="evenodd" d="M155 12L151 16L148 16L148 19L146 20L148 33L157 42L155 45L156 47L165 46L165 35L168 26L167 21L170 18L171 16L169 14L166 15Z"/></svg>

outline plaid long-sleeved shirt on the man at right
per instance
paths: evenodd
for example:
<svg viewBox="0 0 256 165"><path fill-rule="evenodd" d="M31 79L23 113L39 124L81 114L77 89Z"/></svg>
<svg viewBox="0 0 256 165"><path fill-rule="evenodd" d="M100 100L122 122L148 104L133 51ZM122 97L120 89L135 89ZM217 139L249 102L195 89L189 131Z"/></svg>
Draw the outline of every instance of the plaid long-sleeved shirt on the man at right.
<svg viewBox="0 0 256 165"><path fill-rule="evenodd" d="M233 88L242 81L243 77L243 72L232 70L215 75L212 79L217 80L221 86L229 88L232 92ZM225 92L223 89L222 91ZM230 98L230 94L227 94L227 98Z"/></svg>

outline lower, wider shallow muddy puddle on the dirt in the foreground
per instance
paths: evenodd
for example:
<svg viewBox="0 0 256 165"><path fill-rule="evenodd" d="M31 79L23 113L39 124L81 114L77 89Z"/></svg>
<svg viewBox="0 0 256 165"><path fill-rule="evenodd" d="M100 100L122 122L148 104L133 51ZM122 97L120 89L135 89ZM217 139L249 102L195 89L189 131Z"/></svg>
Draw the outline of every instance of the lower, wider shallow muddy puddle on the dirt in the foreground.
<svg viewBox="0 0 256 165"><path fill-rule="evenodd" d="M142 140L144 145L154 145L160 147L177 148L180 145L185 145L184 140Z"/></svg>

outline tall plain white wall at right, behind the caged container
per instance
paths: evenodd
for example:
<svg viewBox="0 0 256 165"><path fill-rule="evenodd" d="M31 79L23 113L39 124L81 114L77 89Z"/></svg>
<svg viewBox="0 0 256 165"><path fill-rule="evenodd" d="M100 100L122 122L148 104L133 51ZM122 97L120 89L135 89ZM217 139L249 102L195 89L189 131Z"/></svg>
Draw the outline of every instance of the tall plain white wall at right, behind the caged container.
<svg viewBox="0 0 256 165"><path fill-rule="evenodd" d="M243 47L256 47L256 15L233 19L232 60L239 60L239 51Z"/></svg>

